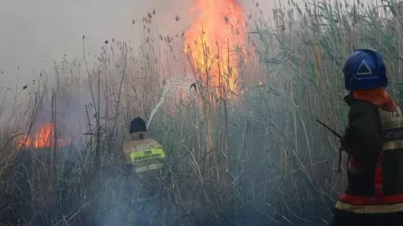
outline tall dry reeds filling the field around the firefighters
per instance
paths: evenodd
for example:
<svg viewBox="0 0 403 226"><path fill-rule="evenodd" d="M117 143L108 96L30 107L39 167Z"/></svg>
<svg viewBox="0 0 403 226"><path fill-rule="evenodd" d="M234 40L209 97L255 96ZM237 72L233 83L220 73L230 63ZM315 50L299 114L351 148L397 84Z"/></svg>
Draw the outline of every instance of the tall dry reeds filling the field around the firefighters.
<svg viewBox="0 0 403 226"><path fill-rule="evenodd" d="M391 93L400 97L403 12L395 0L364 2L289 1L273 12L273 26L256 3L248 16L248 46L257 51L240 67L244 92L228 98L225 81L219 95L198 82L197 99L188 96L193 89L179 89L151 122L151 136L165 146L169 164L159 198L141 213L149 212L145 225L329 221L345 177L337 174L337 139L315 119L339 130L345 125L345 57L355 48L379 49ZM24 101L8 110L2 105L2 225L139 222L133 210L140 203L124 195L118 167L128 122L149 118L168 76L195 74L199 81L201 74L181 55L183 34L158 34L151 29L153 16L143 18L139 50L110 40L99 61L88 65L82 37L86 57L55 63L24 89ZM4 119L10 112L13 117ZM44 122L57 125L53 140L68 137L69 145L15 146L20 132L33 133Z"/></svg>

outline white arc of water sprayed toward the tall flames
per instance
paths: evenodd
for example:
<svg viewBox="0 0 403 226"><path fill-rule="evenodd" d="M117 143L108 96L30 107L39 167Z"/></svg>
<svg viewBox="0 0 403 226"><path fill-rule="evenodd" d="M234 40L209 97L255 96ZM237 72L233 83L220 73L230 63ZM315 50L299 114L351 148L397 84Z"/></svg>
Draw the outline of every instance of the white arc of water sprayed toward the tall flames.
<svg viewBox="0 0 403 226"><path fill-rule="evenodd" d="M147 123L147 129L149 129L149 124L154 117L155 113L157 112L158 108L164 103L165 96L168 94L171 94L173 90L178 90L180 89L181 91L187 92L187 96L191 94L190 92L190 86L194 84L194 77L193 76L174 76L174 77L169 77L165 84L164 84L164 89L162 89L162 94L161 97L159 98L159 101L151 111L151 114L149 115L149 122Z"/></svg>

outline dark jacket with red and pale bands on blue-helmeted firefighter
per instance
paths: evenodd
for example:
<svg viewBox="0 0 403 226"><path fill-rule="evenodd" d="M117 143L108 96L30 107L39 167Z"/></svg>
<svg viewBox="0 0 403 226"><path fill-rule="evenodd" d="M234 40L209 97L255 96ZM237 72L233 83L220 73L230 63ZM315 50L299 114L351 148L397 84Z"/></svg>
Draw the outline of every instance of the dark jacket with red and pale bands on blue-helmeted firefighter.
<svg viewBox="0 0 403 226"><path fill-rule="evenodd" d="M350 106L345 147L348 187L337 210L356 213L403 212L403 115L369 101L345 98Z"/></svg>

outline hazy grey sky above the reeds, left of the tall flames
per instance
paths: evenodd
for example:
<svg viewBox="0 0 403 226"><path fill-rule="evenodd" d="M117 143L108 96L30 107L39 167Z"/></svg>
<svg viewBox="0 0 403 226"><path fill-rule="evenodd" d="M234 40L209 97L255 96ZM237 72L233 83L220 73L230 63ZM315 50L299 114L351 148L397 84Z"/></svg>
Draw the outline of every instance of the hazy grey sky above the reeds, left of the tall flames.
<svg viewBox="0 0 403 226"><path fill-rule="evenodd" d="M61 61L64 54L69 59L82 58L83 34L91 53L100 52L103 42L111 38L138 43L140 23L131 21L139 22L153 9L157 11L153 23L158 23L162 33L181 31L190 24L189 8L194 1L4 0L0 6L2 86L32 80L48 68L46 61ZM245 8L252 5L252 0L241 2ZM260 7L271 13L273 0L262 2ZM182 24L174 23L177 14Z"/></svg>

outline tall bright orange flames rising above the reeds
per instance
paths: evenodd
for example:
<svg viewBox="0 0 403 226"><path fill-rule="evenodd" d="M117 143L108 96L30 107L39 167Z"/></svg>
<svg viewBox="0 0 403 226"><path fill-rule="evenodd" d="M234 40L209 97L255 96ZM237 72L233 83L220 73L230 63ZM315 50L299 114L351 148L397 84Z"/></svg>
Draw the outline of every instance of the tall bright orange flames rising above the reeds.
<svg viewBox="0 0 403 226"><path fill-rule="evenodd" d="M237 93L240 53L245 55L242 6L236 0L196 0L194 10L200 14L185 34L185 52L203 85L219 88L225 84Z"/></svg>

